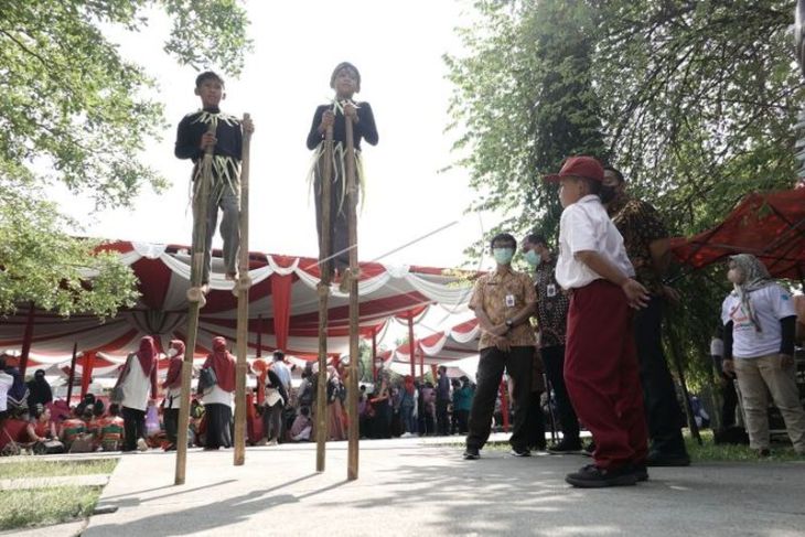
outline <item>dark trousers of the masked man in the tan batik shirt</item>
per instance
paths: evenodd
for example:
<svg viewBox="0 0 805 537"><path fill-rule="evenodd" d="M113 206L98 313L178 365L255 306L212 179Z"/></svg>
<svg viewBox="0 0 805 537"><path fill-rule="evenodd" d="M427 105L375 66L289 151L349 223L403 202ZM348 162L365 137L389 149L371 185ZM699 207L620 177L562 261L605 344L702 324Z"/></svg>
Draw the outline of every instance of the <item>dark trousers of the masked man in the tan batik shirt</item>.
<svg viewBox="0 0 805 537"><path fill-rule="evenodd" d="M503 370L514 382L514 427L509 443L516 449L528 445L527 416L528 400L532 394L532 370L534 369L534 347L512 347L507 353L497 347L481 350L477 363L477 388L470 410L470 432L466 447L482 449L490 438L492 415L495 411L495 399L501 387Z"/></svg>

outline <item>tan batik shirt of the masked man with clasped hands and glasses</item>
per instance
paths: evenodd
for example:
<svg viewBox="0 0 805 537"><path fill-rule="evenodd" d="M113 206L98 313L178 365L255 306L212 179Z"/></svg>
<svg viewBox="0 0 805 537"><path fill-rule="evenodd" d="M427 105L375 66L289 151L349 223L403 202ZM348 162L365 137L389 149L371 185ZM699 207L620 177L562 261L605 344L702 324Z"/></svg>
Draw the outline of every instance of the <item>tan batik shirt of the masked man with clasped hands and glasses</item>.
<svg viewBox="0 0 805 537"><path fill-rule="evenodd" d="M482 308L493 325L503 324L512 319L527 304L536 302L537 296L528 275L507 270L497 270L484 275L475 282L475 289L470 299L470 309ZM512 346L533 346L536 344L534 331L527 322L520 323L506 334ZM494 336L489 332L481 332L479 350L495 346Z"/></svg>

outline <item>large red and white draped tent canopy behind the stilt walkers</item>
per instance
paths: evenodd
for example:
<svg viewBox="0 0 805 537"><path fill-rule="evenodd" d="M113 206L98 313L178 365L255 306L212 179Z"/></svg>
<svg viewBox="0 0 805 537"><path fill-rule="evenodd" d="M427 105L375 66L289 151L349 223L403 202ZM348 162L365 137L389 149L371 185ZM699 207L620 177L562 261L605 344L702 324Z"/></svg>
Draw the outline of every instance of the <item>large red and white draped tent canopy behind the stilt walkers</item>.
<svg viewBox="0 0 805 537"><path fill-rule="evenodd" d="M63 319L35 311L29 367L36 363L68 364L76 342L85 355L98 353L119 363L138 348L143 335L154 336L160 352L168 348L170 340L186 339L189 247L114 241L103 249L118 253L121 262L132 268L139 279L140 300L105 321L93 315ZM223 278L219 253L214 251L213 259L212 290L200 318L196 356L210 352L215 335L224 335L233 344L235 341L237 299L232 293L233 283ZM316 259L250 254L249 277L254 287L249 292L249 354L265 355L282 348L287 354L309 359L316 356L319 276ZM466 303L468 288L458 283L457 277L446 276L440 268L361 264L362 336L371 337L389 319L406 316L411 311L419 314L431 304ZM333 288L329 303L329 352L337 355L348 350L348 297ZM22 348L28 319L29 312L21 311L0 323L0 348Z"/></svg>

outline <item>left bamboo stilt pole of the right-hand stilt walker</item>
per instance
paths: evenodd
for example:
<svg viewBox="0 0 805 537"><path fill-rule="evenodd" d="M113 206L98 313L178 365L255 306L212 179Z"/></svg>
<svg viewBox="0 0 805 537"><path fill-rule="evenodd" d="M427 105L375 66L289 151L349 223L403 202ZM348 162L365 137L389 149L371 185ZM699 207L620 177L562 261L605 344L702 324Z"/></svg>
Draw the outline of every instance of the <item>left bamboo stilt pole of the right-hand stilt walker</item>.
<svg viewBox="0 0 805 537"><path fill-rule="evenodd" d="M321 280L319 293L319 374L316 375L315 395L315 471L324 471L324 448L328 441L328 297L330 296L330 267L332 244L330 233L331 189L333 184L333 128L324 133L324 162L321 171L321 244L319 245L319 270Z"/></svg>

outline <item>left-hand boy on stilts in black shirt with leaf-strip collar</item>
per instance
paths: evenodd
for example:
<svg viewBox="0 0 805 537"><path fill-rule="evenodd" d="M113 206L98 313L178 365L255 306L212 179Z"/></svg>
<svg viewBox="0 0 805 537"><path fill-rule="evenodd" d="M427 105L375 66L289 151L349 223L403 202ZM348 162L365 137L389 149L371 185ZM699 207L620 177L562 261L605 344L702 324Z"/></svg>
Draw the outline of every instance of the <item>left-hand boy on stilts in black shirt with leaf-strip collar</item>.
<svg viewBox="0 0 805 537"><path fill-rule="evenodd" d="M212 71L200 74L195 79L195 95L201 98L202 109L184 116L176 132L175 155L193 160L193 183L195 196L201 181L201 162L207 147L213 150L213 182L207 202L207 227L202 269L202 289L206 292L212 267L212 246L218 207L224 212L221 236L224 239L224 264L226 279L237 277L237 250L240 241L238 216L240 212L240 159L243 157L243 132L254 132L251 120L243 122L221 111L218 105L226 97L224 79ZM243 123L243 125L242 125ZM215 133L208 132L210 125Z"/></svg>

